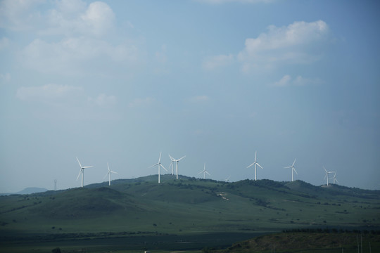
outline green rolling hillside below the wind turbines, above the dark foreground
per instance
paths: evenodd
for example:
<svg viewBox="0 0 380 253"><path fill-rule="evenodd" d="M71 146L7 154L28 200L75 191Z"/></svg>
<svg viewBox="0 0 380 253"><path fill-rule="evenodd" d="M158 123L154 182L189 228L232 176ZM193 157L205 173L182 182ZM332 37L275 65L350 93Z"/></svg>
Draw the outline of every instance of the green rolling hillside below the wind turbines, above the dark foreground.
<svg viewBox="0 0 380 253"><path fill-rule="evenodd" d="M170 175L0 197L0 232L214 233L286 228L379 228L379 191L302 181L224 183ZM104 187L103 187L104 186Z"/></svg>

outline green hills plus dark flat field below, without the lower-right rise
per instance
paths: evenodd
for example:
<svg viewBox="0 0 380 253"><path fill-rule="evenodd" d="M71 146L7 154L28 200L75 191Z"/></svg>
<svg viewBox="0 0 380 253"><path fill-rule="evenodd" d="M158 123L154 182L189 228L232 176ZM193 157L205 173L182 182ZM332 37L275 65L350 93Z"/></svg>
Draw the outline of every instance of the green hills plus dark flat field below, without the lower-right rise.
<svg viewBox="0 0 380 253"><path fill-rule="evenodd" d="M148 176L116 180L110 187L99 183L2 196L0 247L6 252L51 252L59 242L65 252L144 246L200 250L293 228L380 228L380 194L375 190L303 181L175 180L171 175L162 181Z"/></svg>

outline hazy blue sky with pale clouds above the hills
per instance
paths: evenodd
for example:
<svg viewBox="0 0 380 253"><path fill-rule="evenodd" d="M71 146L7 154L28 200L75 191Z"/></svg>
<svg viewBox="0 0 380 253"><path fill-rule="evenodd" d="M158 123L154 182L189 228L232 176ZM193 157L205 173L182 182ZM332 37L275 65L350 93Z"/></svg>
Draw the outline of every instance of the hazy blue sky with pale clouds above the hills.
<svg viewBox="0 0 380 253"><path fill-rule="evenodd" d="M158 174L380 189L380 4L1 0L0 192ZM204 165L205 164L205 165ZM166 171L162 171L166 174ZM171 173L171 169L169 171ZM332 175L330 174L330 177Z"/></svg>

